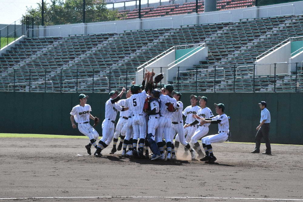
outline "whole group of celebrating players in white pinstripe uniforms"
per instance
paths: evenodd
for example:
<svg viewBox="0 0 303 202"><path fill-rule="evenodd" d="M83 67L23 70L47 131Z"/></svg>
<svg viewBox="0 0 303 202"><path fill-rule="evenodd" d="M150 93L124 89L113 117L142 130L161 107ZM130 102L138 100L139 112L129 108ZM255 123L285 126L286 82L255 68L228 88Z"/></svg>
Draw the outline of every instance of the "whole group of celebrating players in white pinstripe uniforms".
<svg viewBox="0 0 303 202"><path fill-rule="evenodd" d="M142 85L132 85L126 93L126 99L121 99L125 88L120 93L118 91L109 93L110 98L105 103L105 119L102 122L102 138L98 143L96 141L99 134L89 124L89 119L94 120L95 124L98 124L99 119L90 114L91 106L86 104L88 96L79 95L80 104L72 108L70 119L72 127L77 127L74 123L76 121L79 131L90 139L85 145L88 154L92 154L91 146L94 146L96 148L94 156L101 157L102 150L113 141L110 154L123 149L122 156L150 158L152 161L175 160L181 143L185 147L183 155L188 155L189 150L191 159L194 160L196 151L200 161L214 163L216 157L211 144L228 139L229 121L224 113L224 104L215 103L218 115L214 116L206 107L208 99L205 96L191 95L191 105L183 109L181 93L175 92L171 84L164 85L158 90L157 84L163 75L157 75L155 78L154 76L154 71L146 72ZM118 111L120 118L115 127ZM206 136L210 124L218 124L218 134ZM117 148L118 137L120 143ZM205 155L198 142L201 138ZM152 152L151 157L149 149Z"/></svg>

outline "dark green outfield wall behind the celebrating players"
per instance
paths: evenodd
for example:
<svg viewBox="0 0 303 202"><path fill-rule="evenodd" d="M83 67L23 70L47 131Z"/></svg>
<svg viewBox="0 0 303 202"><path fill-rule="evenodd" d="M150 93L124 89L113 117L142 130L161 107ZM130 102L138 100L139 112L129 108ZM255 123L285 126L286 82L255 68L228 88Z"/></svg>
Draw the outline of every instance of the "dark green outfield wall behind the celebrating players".
<svg viewBox="0 0 303 202"><path fill-rule="evenodd" d="M79 104L79 93L0 92L2 113L0 133L81 135L70 122L72 107ZM182 93L184 106L192 93ZM270 139L272 143L303 144L303 93L194 93L208 98L208 107L215 114L214 102L225 104L231 117L231 141L254 142L255 128L260 121L258 102L267 102L271 113ZM92 114L101 122L105 115L107 93L88 93ZM93 121L91 120L91 123ZM102 134L102 123L96 129ZM211 124L209 134L218 131Z"/></svg>

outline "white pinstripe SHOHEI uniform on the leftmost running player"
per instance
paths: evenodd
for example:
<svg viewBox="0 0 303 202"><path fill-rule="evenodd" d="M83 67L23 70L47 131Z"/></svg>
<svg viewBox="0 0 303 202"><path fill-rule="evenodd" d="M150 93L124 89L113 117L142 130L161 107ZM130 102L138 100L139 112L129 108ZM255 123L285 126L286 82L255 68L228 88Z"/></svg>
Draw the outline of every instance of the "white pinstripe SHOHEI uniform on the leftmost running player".
<svg viewBox="0 0 303 202"><path fill-rule="evenodd" d="M89 104L85 104L84 107L78 104L72 108L70 114L74 116L75 121L78 123L78 129L82 134L87 136L90 140L97 140L99 134L95 128L89 124L90 111L92 111L92 108Z"/></svg>

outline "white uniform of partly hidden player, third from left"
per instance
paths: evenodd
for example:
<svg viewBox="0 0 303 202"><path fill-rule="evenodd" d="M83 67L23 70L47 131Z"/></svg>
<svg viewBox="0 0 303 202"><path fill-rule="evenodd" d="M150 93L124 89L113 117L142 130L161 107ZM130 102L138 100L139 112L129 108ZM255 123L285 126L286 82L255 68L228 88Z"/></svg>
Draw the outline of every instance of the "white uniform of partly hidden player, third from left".
<svg viewBox="0 0 303 202"><path fill-rule="evenodd" d="M121 107L125 107L125 101L126 99L122 99L119 100L117 102L118 105L120 105ZM125 136L126 133L126 123L127 123L127 119L128 119L128 114L129 111L120 111L120 118L116 124L116 128L115 128L115 133L114 133L114 138L118 139L119 135L121 134L122 136ZM123 128L125 128L123 130ZM123 132L123 133L122 133Z"/></svg>

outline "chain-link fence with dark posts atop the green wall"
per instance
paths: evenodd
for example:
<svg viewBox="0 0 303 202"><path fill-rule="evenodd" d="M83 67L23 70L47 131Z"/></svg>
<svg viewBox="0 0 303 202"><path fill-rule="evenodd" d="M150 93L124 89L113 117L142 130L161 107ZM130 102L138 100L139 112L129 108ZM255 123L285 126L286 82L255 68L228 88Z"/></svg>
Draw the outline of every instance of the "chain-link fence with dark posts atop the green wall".
<svg viewBox="0 0 303 202"><path fill-rule="evenodd" d="M165 81L181 92L285 92L303 90L301 63L242 66L176 67L175 73L159 67ZM156 69L156 68L155 68ZM186 69L186 70L182 70ZM158 72L160 73L160 72ZM8 68L0 74L1 91L108 92L129 88L143 73L134 68ZM160 83L161 85L162 83Z"/></svg>

